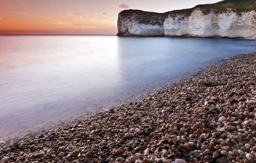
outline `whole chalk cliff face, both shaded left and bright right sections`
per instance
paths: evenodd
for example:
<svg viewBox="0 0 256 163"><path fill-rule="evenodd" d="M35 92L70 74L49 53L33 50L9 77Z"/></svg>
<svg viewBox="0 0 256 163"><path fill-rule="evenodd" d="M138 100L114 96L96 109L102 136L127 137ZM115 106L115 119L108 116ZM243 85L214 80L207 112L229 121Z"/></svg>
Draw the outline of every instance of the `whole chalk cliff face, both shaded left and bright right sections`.
<svg viewBox="0 0 256 163"><path fill-rule="evenodd" d="M117 35L256 39L256 11L204 5L165 13L125 10Z"/></svg>

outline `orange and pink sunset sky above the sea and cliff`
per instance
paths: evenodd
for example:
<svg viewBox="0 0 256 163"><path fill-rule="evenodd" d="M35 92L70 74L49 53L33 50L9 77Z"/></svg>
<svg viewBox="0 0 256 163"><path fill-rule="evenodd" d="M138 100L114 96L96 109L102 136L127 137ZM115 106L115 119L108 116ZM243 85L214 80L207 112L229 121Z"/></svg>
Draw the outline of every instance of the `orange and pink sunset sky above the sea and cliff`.
<svg viewBox="0 0 256 163"><path fill-rule="evenodd" d="M167 12L220 0L0 0L0 35L116 34L124 9Z"/></svg>

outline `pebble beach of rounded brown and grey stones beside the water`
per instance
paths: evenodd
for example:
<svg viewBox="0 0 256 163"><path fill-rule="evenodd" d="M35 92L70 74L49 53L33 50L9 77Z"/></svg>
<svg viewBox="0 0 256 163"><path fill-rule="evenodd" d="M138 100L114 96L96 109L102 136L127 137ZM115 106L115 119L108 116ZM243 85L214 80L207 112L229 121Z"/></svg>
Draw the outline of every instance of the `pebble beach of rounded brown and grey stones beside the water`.
<svg viewBox="0 0 256 163"><path fill-rule="evenodd" d="M255 82L256 52L238 54L132 103L0 142L0 162L253 163Z"/></svg>

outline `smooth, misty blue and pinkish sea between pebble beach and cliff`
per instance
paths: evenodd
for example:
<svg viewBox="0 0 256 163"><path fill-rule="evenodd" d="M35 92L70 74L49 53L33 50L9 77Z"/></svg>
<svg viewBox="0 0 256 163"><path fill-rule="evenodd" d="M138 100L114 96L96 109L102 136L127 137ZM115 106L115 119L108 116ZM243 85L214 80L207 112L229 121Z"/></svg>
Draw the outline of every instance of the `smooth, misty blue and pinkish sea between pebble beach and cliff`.
<svg viewBox="0 0 256 163"><path fill-rule="evenodd" d="M0 36L0 137L79 115L255 45L237 39Z"/></svg>

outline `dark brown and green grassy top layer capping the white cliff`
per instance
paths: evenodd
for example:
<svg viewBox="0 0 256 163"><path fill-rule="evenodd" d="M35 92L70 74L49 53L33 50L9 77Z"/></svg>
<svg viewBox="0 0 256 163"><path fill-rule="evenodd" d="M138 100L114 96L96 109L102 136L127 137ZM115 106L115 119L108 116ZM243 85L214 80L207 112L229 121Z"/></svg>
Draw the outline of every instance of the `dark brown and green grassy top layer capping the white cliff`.
<svg viewBox="0 0 256 163"><path fill-rule="evenodd" d="M164 13L158 12L146 12L137 9L128 9L123 10L119 13L119 18L125 17L126 19L135 18L137 19L138 23L141 24L158 24L163 25L165 18L168 15L173 17L177 15L182 15L180 18L183 20L185 17L190 16L194 9L199 8L204 15L207 15L210 12L215 12L216 14L223 13L223 12L230 12L232 9L233 12L237 12L239 15L242 12L256 10L256 0L223 0L218 3L213 4L203 4L197 5L191 9L180 9L174 10Z"/></svg>

